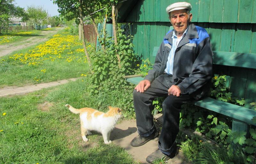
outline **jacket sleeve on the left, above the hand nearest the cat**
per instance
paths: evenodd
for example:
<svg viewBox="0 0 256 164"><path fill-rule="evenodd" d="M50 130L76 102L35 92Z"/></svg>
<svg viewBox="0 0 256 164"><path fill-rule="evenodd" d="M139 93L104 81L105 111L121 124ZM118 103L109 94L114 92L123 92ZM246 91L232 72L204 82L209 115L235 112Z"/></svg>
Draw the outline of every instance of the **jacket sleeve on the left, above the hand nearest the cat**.
<svg viewBox="0 0 256 164"><path fill-rule="evenodd" d="M157 75L160 72L160 68L161 68L162 61L163 61L163 55L164 55L164 42L161 43L161 45L157 51L153 69L148 71L148 75L146 75L144 77L144 80L148 80L148 81L150 81L150 83L152 83L153 80L156 79Z"/></svg>

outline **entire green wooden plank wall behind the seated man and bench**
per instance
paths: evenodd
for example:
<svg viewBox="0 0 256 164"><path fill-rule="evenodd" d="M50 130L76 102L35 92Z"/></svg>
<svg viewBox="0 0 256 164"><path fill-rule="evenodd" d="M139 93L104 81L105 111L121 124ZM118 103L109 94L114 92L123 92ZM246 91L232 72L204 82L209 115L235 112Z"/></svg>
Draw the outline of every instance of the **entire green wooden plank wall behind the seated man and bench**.
<svg viewBox="0 0 256 164"><path fill-rule="evenodd" d="M186 1L192 5L192 22L209 33L213 51L256 53L256 0ZM175 2L179 1L138 0L124 19L132 23L134 51L142 59L154 63L153 48L160 46L171 26L165 8ZM227 75L227 87L233 97L245 98L246 107L256 101L255 69L215 65L214 73Z"/></svg>

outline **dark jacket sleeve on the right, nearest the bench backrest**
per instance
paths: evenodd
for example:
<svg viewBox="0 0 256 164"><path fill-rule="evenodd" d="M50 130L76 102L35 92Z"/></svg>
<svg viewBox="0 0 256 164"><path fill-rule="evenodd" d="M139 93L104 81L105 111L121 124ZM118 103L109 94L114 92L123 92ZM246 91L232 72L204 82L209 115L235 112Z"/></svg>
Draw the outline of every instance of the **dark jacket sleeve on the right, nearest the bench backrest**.
<svg viewBox="0 0 256 164"><path fill-rule="evenodd" d="M193 63L191 74L178 84L181 94L195 92L212 77L212 48L209 37L199 43L196 54L198 55Z"/></svg>

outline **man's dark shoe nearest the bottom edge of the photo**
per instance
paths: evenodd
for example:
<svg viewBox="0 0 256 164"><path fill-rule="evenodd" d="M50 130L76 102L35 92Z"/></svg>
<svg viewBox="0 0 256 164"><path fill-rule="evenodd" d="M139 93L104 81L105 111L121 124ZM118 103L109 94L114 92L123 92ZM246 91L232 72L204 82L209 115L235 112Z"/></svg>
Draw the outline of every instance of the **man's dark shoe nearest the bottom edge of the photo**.
<svg viewBox="0 0 256 164"><path fill-rule="evenodd" d="M155 152L149 154L146 158L148 163L152 163L154 160L161 159L164 160L164 162L167 162L167 160L170 160L170 158L175 157L179 153L179 149L177 149L174 153L171 153L170 155L165 155L161 152L161 150L156 150Z"/></svg>

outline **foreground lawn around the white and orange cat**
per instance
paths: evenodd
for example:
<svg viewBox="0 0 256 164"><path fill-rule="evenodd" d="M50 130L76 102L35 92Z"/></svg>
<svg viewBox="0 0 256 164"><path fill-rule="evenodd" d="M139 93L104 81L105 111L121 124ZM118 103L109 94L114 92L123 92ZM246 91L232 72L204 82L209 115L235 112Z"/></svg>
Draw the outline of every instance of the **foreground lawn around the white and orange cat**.
<svg viewBox="0 0 256 164"><path fill-rule="evenodd" d="M115 96L111 93L87 97L87 85L85 77L56 89L0 98L0 163L137 163L123 148L105 145L101 135L83 142L79 117L64 104L89 104L100 111L118 104L110 103Z"/></svg>

